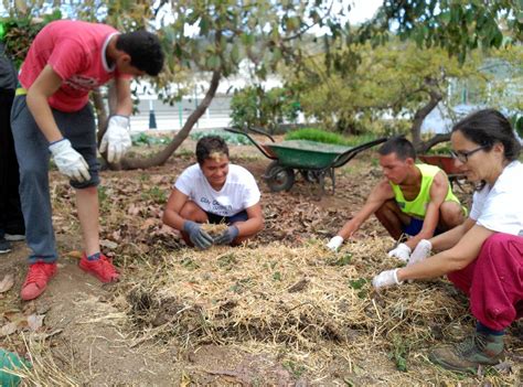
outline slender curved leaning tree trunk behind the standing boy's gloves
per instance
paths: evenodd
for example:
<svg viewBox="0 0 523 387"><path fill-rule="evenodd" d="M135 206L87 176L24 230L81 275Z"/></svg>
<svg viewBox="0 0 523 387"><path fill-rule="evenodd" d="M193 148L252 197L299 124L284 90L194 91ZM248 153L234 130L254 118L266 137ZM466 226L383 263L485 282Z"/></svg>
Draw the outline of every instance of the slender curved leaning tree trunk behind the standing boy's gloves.
<svg viewBox="0 0 523 387"><path fill-rule="evenodd" d="M189 116L188 120L183 125L183 128L174 136L172 141L168 143L167 147L162 151L147 159L125 158L121 161L121 169L136 170L136 169L147 169L150 166L163 165L172 155L172 153L174 153L178 147L180 147L180 144L188 138L189 133L194 127L194 123L196 123L196 121L203 116L205 110L211 105L211 101L213 100L216 94L216 89L220 85L221 77L222 77L221 69L216 69L213 72L211 85L209 87L207 93L205 94L205 97L202 99L202 101L196 107L196 109Z"/></svg>

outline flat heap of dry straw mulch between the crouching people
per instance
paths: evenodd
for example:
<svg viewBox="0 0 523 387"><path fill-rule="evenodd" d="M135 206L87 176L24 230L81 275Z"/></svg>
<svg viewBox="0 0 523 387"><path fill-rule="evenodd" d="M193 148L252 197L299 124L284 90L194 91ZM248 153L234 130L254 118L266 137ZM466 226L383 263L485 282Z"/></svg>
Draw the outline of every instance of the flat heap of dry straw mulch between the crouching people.
<svg viewBox="0 0 523 387"><path fill-rule="evenodd" d="M352 243L338 254L319 240L182 249L138 279L128 300L139 325L168 324L163 333L193 344L257 340L312 348L362 334L371 342L394 332L419 338L467 315L465 299L441 283L375 292L372 276L398 265L384 254L391 241Z"/></svg>

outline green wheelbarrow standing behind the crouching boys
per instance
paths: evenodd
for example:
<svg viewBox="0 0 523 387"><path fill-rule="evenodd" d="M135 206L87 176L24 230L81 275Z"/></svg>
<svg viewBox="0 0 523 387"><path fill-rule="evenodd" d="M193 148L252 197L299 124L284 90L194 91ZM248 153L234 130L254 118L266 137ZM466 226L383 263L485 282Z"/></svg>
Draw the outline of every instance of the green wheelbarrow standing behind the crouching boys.
<svg viewBox="0 0 523 387"><path fill-rule="evenodd" d="M356 147L334 146L309 140L276 142L263 130L248 129L248 131L264 135L270 140L270 142L259 143L247 131L233 128L225 128L225 130L246 136L267 159L273 160L263 176L273 192L289 191L295 184L298 172L306 181L319 183L321 193L324 193L325 176L329 176L332 180L332 193L334 193L334 169L345 165L357 153L387 140L387 138L380 138Z"/></svg>

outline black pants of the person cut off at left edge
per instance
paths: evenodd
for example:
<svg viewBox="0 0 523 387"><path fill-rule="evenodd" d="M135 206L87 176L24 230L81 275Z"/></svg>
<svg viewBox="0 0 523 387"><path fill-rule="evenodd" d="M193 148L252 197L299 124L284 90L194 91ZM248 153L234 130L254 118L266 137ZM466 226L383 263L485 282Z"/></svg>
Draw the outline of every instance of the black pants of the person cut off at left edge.
<svg viewBox="0 0 523 387"><path fill-rule="evenodd" d="M25 234L20 207L20 175L11 132L14 90L0 89L0 238L4 233Z"/></svg>

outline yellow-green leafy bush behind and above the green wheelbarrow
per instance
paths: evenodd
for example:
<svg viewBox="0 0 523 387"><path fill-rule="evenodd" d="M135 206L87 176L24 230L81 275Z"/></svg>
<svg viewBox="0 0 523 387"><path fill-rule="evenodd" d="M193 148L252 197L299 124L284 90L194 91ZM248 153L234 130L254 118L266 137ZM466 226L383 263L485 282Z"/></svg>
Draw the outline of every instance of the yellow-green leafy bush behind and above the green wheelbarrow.
<svg viewBox="0 0 523 387"><path fill-rule="evenodd" d="M405 133L433 95L446 96L449 79L485 83L477 69L478 57L460 66L441 49L420 50L410 42L391 40L386 45L351 45L337 52L340 57L357 56L357 66L332 68L324 63L327 55L319 54L305 62L303 71L286 75L305 115L331 131Z"/></svg>

